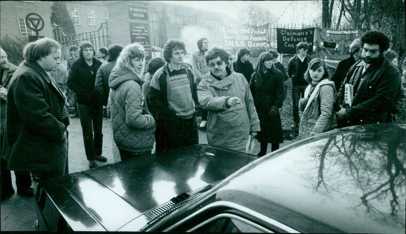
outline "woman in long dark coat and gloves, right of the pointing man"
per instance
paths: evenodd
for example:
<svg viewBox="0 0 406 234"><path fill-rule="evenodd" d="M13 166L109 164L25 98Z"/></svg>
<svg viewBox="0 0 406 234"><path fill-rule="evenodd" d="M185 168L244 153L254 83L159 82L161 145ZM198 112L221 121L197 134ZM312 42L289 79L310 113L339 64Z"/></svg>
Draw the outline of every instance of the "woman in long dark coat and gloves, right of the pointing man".
<svg viewBox="0 0 406 234"><path fill-rule="evenodd" d="M261 131L257 135L261 143L258 156L266 154L267 144L272 143L272 151L279 149L283 142L281 114L284 99L283 75L272 63L273 56L263 52L258 66L251 76L250 89L258 112Z"/></svg>

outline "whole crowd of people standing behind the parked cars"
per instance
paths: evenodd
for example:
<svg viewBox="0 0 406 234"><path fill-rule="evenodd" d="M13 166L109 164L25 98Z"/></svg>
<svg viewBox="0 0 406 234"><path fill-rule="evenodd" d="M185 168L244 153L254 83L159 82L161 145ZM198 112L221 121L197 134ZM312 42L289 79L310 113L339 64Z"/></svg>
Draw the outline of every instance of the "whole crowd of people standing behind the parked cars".
<svg viewBox="0 0 406 234"><path fill-rule="evenodd" d="M275 151L283 142L280 109L289 77L291 128L299 139L334 127L391 123L404 106L398 55L381 32L356 39L331 77L322 59L307 54L306 42L297 44L287 71L275 50L261 53L254 69L247 48L233 62L225 49L209 50L207 38L197 47L188 64L185 44L167 41L163 58L152 58L145 72L146 52L137 43L101 47L99 59L89 42L71 46L66 68L50 38L27 44L18 67L1 49L2 200L14 193L10 170L23 196L33 196L31 176L41 181L68 173L70 107L80 118L89 168L95 168L107 161L103 116L111 118L121 160L151 154L154 142L156 152L199 143L197 114L209 145L246 151L248 139L257 138L258 157L268 143Z"/></svg>

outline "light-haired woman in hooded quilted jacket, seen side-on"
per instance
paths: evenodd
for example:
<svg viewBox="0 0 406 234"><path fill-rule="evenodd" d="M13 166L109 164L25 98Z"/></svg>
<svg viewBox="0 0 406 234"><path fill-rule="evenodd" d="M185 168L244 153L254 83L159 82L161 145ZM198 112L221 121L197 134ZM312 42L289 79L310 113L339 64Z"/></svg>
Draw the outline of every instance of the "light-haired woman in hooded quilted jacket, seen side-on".
<svg viewBox="0 0 406 234"><path fill-rule="evenodd" d="M140 79L145 50L140 44L126 46L109 77L113 139L121 160L151 154L156 124L148 110Z"/></svg>

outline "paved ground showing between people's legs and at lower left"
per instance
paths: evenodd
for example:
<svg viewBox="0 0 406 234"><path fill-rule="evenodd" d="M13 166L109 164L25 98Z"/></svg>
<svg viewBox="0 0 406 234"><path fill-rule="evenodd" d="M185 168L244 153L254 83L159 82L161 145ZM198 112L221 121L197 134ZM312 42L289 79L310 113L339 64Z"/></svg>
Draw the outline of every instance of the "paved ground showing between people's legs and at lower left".
<svg viewBox="0 0 406 234"><path fill-rule="evenodd" d="M68 127L69 131L69 172L79 172L88 170L88 161L85 156L85 149L83 145L82 129L78 118L71 119L71 125ZM107 158L106 163L97 162L99 166L118 162L120 160L118 149L112 147L112 131L110 127L110 119L104 119L103 122L103 155ZM259 143L255 141L255 148L253 154L259 152ZM207 144L206 132L199 131L199 143ZM285 141L281 147L292 143L292 141ZM154 149L153 149L154 151ZM270 144L268 145L268 153L270 152ZM14 190L15 176L12 172ZM36 183L32 182L33 188ZM1 231L33 231L34 225L37 220L35 201L33 198L26 198L14 194L11 198L1 202Z"/></svg>

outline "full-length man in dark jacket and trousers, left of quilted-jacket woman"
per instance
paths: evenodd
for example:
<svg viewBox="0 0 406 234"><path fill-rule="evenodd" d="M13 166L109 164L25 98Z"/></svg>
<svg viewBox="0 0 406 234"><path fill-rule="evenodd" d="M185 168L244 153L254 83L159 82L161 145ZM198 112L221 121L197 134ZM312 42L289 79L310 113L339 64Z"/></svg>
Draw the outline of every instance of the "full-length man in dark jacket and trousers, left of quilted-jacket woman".
<svg viewBox="0 0 406 234"><path fill-rule="evenodd" d="M76 95L80 125L82 126L83 141L89 168L97 167L95 160L106 162L101 155L103 147L103 105L97 99L94 91L96 73L101 62L94 58L96 51L90 42L82 42L80 59L76 60L67 76L67 87Z"/></svg>

